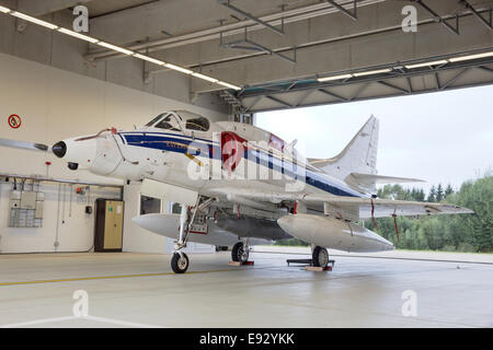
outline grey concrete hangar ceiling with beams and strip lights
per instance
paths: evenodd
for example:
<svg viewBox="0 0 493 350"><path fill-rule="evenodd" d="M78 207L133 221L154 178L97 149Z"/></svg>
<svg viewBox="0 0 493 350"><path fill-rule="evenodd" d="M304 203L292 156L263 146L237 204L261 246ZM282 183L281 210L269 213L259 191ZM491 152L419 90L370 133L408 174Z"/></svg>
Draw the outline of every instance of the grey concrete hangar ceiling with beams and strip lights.
<svg viewBox="0 0 493 350"><path fill-rule="evenodd" d="M18 0L16 9L49 19L81 3L91 36L241 86L191 78L192 94L220 94L234 112L493 82L493 0ZM417 10L415 33L402 31L405 5ZM84 57L130 59L96 45ZM168 71L150 65L144 79Z"/></svg>

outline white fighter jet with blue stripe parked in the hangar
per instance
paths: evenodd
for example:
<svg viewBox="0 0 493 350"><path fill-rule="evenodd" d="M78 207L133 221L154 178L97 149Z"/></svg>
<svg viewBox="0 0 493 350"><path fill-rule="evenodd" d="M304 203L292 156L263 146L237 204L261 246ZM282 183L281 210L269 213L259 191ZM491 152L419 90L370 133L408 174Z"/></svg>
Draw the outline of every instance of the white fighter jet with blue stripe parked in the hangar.
<svg viewBox="0 0 493 350"><path fill-rule="evenodd" d="M377 175L375 117L332 159L303 159L295 143L185 110L163 113L131 131L112 128L53 147L0 139L0 145L53 152L73 171L142 182L142 192L180 203L179 213L134 219L176 238L171 261L176 273L190 266L182 252L187 242L232 246L232 259L245 262L252 245L297 237L312 245L312 264L325 267L326 248L394 249L358 225L362 220L472 213L446 203L378 199L377 184L420 180Z"/></svg>

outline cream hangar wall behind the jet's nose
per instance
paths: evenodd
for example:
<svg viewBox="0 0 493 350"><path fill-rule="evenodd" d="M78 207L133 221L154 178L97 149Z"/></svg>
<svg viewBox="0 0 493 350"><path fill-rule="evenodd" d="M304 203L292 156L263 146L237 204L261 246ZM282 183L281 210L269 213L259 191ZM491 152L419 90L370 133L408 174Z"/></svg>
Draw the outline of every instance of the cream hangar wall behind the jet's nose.
<svg viewBox="0 0 493 350"><path fill-rule="evenodd" d="M36 141L46 144L79 135L93 135L107 127L133 129L144 125L156 115L168 109L185 108L207 115L213 119L226 119L220 112L205 109L183 102L157 96L113 84L99 79L68 72L42 63L0 54L0 138ZM20 129L11 129L8 117L18 114L22 118ZM22 150L0 149L0 173L19 175L46 175L45 162L49 161L49 176L96 183L121 184L83 172L71 172L54 155ZM45 225L43 229L8 229L8 206L11 184L0 185L0 252L80 252L91 248L93 215L83 213L83 206L72 208L68 218L68 190L58 211L58 185L45 185ZM99 197L117 198L118 190L101 190L91 194L91 201ZM138 213L139 192L129 191L127 213ZM82 210L80 210L82 209ZM77 213L76 213L77 211ZM65 223L62 223L65 221ZM57 230L60 246L54 246ZM149 238L133 232L125 222L124 249L126 252L158 253L164 246L164 237ZM150 234L149 234L150 235ZM140 242L145 237L145 242ZM158 241L156 241L158 240ZM149 242L147 242L149 241Z"/></svg>

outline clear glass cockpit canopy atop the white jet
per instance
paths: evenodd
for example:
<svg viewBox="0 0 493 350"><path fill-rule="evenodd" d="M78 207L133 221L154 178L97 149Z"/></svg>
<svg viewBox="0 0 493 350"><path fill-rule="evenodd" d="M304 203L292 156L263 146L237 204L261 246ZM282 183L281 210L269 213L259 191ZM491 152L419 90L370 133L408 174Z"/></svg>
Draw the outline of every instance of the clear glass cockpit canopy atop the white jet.
<svg viewBox="0 0 493 350"><path fill-rule="evenodd" d="M202 131L206 132L210 128L210 121L192 112L187 110L172 110L160 114L151 121L149 121L146 127L158 128L171 131Z"/></svg>

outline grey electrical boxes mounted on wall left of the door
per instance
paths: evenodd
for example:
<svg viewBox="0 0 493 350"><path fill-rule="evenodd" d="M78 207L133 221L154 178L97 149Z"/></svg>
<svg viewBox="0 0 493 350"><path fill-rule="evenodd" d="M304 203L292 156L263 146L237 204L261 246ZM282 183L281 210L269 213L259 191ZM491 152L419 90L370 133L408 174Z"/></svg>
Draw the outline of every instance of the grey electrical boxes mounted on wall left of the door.
<svg viewBox="0 0 493 350"><path fill-rule="evenodd" d="M12 190L9 228L42 228L44 202L43 192Z"/></svg>

